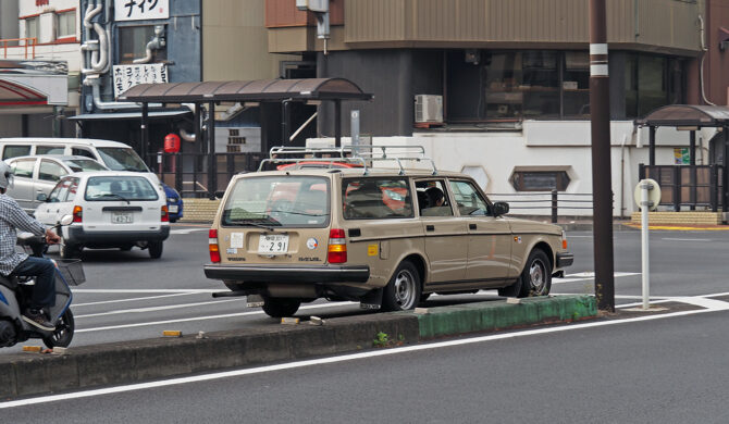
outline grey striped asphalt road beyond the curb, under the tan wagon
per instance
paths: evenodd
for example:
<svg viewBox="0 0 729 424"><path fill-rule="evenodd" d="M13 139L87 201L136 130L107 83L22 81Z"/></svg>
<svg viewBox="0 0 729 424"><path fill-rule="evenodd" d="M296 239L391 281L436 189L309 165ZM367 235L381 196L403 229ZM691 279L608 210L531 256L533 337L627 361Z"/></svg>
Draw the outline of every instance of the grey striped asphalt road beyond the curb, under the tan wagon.
<svg viewBox="0 0 729 424"><path fill-rule="evenodd" d="M206 226L174 225L161 259L133 249L86 250L87 282L74 287L76 335L72 346L161 337L165 329L184 334L277 325L244 298L213 299L222 283L207 279ZM574 264L564 279L555 279L554 294L592 294L594 278L591 232L568 234ZM57 257L52 248L50 257ZM653 296L690 296L729 291L721 264L729 250L729 232L655 232L651 238ZM615 232L615 286L618 304L640 302L640 232ZM435 296L430 305L497 299L494 290L479 295ZM356 303L318 301L304 304L298 315L322 317L373 313ZM28 340L24 345L39 345ZM0 354L17 352L18 345Z"/></svg>

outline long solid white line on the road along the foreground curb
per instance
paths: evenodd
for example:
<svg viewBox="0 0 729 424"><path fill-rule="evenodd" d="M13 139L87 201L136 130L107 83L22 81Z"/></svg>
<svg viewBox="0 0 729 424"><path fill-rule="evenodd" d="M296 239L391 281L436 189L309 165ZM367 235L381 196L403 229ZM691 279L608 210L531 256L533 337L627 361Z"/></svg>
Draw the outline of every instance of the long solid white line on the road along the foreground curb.
<svg viewBox="0 0 729 424"><path fill-rule="evenodd" d="M598 322L590 322L590 323L580 323L580 324L571 324L571 325L564 325L564 326L556 326L556 327L528 329L528 331L518 332L518 333L492 334L492 335L489 335L489 336L481 336L481 337L438 341L438 342L427 344L427 345L405 346L405 347L392 348L392 349L386 349L386 350L373 350L373 351L368 351L368 352L343 354L343 356L338 356L338 357L330 357L330 358L320 358L320 359L306 360L306 361L288 362L288 363L276 364L276 365L257 366L257 367L252 367L252 369L225 371L225 372L220 372L220 373L210 373L210 374L195 375L195 376L188 376L188 377L170 378L170 379L163 379L163 381L150 382L150 383L139 383L139 384L131 384L131 385L124 385L124 386L108 387L108 388L102 388L102 389L76 391L76 392L70 392L70 394L64 394L64 395L41 396L41 397L30 398L30 399L21 399L21 400L8 401L8 402L0 402L0 409L25 407L25 406L29 406L29 404L39 404L39 403L48 403L48 402L57 402L57 401L71 400L71 399L89 398L89 397L95 397L95 396L120 394L120 392L134 391L134 390L144 390L144 389L158 388L158 387L168 387L168 386L175 386L175 385L182 385L182 384L188 384L188 383L209 382L209 381L221 379L221 378L231 378L231 377L239 377L239 376L244 376L244 375L262 374L262 373L268 373L268 372L273 372L273 371L294 370L294 369L313 366L313 365L356 361L356 360L367 359L367 358L385 357L385 356L391 356L391 354L399 354L399 353L407 353L407 352L421 351L421 350L441 349L441 348L447 348L447 347L453 347L453 346L467 346L467 345L473 345L473 344L479 344L479 342L487 342L487 341L504 340L504 339L514 339L514 338L536 336L536 335L551 334L551 333L563 333L563 332L584 329L584 328L596 328L596 327L603 327L603 326L607 326L607 325L637 323L637 322L653 321L653 320L665 320L665 319L669 319L669 317L687 316L687 315L694 315L694 314L706 313L706 312L717 312L717 311L729 310L729 303L727 303L727 302L722 302L722 303L724 303L722 305L715 305L711 309L703 309L703 310L695 310L695 311L680 311L680 312L671 312L671 313L664 313L664 314L637 316L637 317L631 317L631 319L626 319L626 320L613 320L613 321L598 321Z"/></svg>

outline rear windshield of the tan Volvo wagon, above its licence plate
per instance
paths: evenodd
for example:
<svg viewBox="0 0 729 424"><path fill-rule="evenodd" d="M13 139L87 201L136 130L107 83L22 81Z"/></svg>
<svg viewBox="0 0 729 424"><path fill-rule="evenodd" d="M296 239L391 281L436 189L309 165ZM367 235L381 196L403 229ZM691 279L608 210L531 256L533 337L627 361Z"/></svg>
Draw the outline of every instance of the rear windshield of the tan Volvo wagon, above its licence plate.
<svg viewBox="0 0 729 424"><path fill-rule="evenodd" d="M322 177L240 178L225 202L223 225L322 227L329 223L329 194Z"/></svg>

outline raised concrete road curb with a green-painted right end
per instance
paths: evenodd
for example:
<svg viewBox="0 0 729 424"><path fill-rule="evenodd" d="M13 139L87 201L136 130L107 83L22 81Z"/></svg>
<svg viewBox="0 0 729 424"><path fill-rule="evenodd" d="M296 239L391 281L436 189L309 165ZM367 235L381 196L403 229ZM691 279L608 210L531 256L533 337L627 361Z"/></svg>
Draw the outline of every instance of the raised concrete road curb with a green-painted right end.
<svg viewBox="0 0 729 424"><path fill-rule="evenodd" d="M429 308L325 320L317 326L254 327L70 348L66 354L0 357L0 398L123 385L190 373L250 366L371 349L378 334L387 344L596 316L592 296L559 296ZM382 340L380 340L382 341Z"/></svg>

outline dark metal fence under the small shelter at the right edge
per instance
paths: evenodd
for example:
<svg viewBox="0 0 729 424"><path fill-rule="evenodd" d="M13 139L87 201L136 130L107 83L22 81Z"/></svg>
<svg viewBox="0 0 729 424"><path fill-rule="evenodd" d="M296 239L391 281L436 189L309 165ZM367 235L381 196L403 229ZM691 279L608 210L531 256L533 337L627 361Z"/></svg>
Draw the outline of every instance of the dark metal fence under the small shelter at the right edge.
<svg viewBox="0 0 729 424"><path fill-rule="evenodd" d="M696 207L711 208L713 212L722 207L721 165L644 165L640 164L640 178L655 179L660 186L660 203L691 210Z"/></svg>

